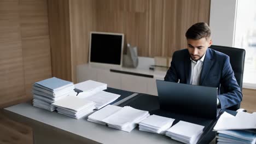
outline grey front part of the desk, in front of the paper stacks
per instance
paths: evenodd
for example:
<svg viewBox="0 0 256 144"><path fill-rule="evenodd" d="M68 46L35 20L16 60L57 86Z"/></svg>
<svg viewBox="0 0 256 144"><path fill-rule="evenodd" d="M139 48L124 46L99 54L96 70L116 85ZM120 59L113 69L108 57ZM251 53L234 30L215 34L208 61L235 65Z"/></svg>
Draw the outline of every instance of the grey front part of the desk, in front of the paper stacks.
<svg viewBox="0 0 256 144"><path fill-rule="evenodd" d="M117 89L108 90L114 92ZM34 143L180 143L164 135L139 131L138 128L127 133L88 122L85 118L70 118L33 107L31 103L8 107L5 112L15 121L33 128Z"/></svg>

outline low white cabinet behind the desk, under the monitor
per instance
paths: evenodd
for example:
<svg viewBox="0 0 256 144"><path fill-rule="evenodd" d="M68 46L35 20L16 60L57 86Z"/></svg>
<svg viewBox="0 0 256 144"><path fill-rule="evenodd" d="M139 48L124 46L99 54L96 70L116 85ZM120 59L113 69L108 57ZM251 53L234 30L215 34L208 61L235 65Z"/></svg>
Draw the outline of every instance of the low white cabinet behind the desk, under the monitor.
<svg viewBox="0 0 256 144"><path fill-rule="evenodd" d="M128 71L130 74L115 73L109 68L91 67L89 64L78 65L77 67L77 81L82 82L86 80L94 80L98 82L107 83L108 87L123 89L125 91L147 93L158 95L156 89L156 79L164 80L166 71L152 71L121 68L120 71ZM132 74L133 73L133 74ZM142 74L137 76L135 74ZM145 77L153 76L152 77Z"/></svg>

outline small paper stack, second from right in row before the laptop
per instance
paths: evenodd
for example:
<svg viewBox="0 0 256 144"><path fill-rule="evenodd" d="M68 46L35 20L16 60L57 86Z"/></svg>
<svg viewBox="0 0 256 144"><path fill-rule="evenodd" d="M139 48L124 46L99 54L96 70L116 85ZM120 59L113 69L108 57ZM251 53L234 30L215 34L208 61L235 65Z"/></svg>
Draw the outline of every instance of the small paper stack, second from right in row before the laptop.
<svg viewBox="0 0 256 144"><path fill-rule="evenodd" d="M165 134L166 130L172 126L174 120L173 118L152 115L139 123L139 130Z"/></svg>

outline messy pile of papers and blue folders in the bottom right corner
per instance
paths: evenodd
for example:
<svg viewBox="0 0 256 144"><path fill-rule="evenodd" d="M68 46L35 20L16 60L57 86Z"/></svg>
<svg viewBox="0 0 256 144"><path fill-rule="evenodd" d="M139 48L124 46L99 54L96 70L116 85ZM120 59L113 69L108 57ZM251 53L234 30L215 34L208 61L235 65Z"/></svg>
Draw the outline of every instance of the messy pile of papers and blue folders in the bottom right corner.
<svg viewBox="0 0 256 144"><path fill-rule="evenodd" d="M224 112L213 129L217 143L256 143L256 113L238 112L233 116Z"/></svg>

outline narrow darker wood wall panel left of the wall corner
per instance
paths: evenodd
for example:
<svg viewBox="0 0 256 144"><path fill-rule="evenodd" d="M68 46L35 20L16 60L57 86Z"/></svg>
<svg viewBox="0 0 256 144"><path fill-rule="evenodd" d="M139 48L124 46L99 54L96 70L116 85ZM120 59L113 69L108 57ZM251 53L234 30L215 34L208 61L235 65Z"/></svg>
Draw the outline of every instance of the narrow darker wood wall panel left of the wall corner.
<svg viewBox="0 0 256 144"><path fill-rule="evenodd" d="M69 1L48 1L52 75L72 81Z"/></svg>

